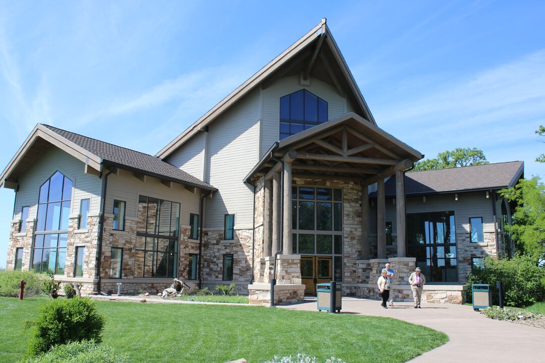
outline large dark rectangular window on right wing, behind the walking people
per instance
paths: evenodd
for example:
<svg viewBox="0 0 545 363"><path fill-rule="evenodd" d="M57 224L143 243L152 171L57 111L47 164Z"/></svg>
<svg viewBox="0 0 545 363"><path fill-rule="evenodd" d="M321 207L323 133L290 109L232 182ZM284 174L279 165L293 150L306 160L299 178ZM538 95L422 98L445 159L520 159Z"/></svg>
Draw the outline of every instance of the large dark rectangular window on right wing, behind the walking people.
<svg viewBox="0 0 545 363"><path fill-rule="evenodd" d="M427 281L458 281L453 211L407 214L407 241Z"/></svg>

